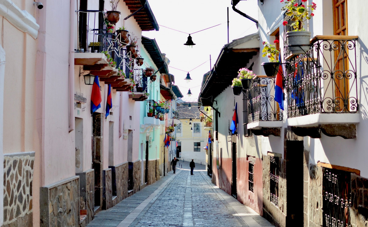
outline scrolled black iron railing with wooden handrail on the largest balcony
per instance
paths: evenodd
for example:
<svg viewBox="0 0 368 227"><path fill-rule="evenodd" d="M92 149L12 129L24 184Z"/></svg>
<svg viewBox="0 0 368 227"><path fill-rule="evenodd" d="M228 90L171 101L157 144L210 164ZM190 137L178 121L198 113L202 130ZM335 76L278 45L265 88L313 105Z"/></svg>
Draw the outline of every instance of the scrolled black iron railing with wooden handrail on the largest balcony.
<svg viewBox="0 0 368 227"><path fill-rule="evenodd" d="M356 113L357 36L316 36L305 54L286 60L288 117Z"/></svg>

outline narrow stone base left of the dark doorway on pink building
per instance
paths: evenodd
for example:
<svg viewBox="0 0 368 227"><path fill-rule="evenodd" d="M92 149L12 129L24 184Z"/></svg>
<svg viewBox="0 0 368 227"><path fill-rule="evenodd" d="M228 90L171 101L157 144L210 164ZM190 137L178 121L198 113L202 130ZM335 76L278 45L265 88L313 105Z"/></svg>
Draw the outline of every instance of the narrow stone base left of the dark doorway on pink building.
<svg viewBox="0 0 368 227"><path fill-rule="evenodd" d="M90 223L94 218L94 190L95 190L95 174L93 169L87 170L83 173L77 173L79 176L79 206L81 210L87 210L87 217L85 219L85 224Z"/></svg>

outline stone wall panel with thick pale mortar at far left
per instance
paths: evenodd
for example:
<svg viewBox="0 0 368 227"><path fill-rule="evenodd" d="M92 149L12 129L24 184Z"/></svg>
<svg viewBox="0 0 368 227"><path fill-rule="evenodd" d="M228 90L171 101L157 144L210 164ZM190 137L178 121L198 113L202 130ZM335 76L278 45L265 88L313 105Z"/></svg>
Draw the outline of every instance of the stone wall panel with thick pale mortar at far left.
<svg viewBox="0 0 368 227"><path fill-rule="evenodd" d="M4 227L32 226L34 161L35 152L4 154Z"/></svg>

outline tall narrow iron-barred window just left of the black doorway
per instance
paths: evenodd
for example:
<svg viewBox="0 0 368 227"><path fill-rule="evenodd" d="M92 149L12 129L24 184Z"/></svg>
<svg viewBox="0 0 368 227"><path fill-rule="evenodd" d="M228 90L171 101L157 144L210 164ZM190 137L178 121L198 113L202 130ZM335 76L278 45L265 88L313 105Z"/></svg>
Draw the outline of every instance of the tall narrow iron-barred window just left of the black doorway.
<svg viewBox="0 0 368 227"><path fill-rule="evenodd" d="M279 206L279 157L270 156L270 202Z"/></svg>

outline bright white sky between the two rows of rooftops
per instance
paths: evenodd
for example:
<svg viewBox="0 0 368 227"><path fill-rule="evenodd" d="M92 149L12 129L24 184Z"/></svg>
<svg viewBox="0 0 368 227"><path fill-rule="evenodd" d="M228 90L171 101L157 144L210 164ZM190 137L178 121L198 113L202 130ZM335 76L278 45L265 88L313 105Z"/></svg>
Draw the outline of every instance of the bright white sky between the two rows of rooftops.
<svg viewBox="0 0 368 227"><path fill-rule="evenodd" d="M227 7L229 7L230 22L229 42L257 31L254 22L233 11L231 0L149 0L148 2L157 23L162 26L159 31L142 32L142 35L156 39L161 52L166 53L166 57L170 60L169 72L175 76L175 85L180 88L185 101L197 101L203 74L210 71L220 50L227 43ZM257 0L240 1L237 8L257 19L257 2ZM192 48L183 45L188 37L185 33L197 32L217 24L221 25L191 34L196 44ZM212 65L209 61L210 55ZM192 70L202 63L204 64ZM187 71L190 71L192 78L190 83L184 80ZM187 95L189 88L193 94L191 97Z"/></svg>

